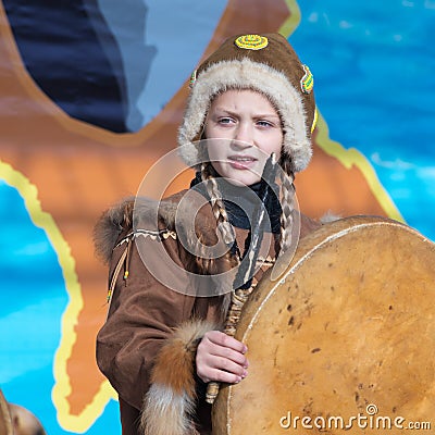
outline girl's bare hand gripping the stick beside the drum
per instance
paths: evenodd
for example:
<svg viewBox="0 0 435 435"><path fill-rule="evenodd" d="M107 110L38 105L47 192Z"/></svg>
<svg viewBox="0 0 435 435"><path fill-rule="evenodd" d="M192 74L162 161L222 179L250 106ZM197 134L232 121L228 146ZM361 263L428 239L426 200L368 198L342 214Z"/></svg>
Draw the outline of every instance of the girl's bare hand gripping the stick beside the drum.
<svg viewBox="0 0 435 435"><path fill-rule="evenodd" d="M220 332L209 331L197 350L197 374L207 384L210 381L236 384L247 376L248 348L243 343Z"/></svg>

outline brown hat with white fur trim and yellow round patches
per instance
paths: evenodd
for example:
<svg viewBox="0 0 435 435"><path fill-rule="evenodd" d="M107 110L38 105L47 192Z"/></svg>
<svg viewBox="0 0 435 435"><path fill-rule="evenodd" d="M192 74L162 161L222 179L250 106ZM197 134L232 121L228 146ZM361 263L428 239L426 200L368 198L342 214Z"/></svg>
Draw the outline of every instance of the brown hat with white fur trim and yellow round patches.
<svg viewBox="0 0 435 435"><path fill-rule="evenodd" d="M294 173L307 167L316 117L313 77L285 37L264 34L227 39L194 72L190 86L178 132L181 156L189 166L197 165L202 156L198 140L213 97L227 89L253 89L265 95L281 116L286 167Z"/></svg>

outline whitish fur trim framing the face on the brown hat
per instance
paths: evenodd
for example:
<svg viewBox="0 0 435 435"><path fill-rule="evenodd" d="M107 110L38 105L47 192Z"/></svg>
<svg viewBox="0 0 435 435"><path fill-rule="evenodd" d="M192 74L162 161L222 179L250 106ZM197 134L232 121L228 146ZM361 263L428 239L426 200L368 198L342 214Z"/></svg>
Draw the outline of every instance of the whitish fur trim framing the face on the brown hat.
<svg viewBox="0 0 435 435"><path fill-rule="evenodd" d="M214 63L196 79L178 132L181 156L189 166L200 163L198 144L211 99L227 89L253 89L266 95L276 107L284 127L284 151L291 157L294 172L307 167L311 138L307 135L306 112L300 91L284 73L247 58Z"/></svg>

